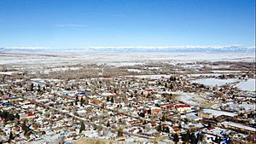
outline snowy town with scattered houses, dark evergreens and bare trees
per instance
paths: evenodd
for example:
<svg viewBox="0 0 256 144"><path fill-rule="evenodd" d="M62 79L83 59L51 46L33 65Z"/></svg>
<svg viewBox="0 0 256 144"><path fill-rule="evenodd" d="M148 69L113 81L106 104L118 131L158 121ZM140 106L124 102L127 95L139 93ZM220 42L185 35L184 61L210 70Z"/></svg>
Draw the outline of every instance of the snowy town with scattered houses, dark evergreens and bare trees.
<svg viewBox="0 0 256 144"><path fill-rule="evenodd" d="M0 143L256 141L253 62L17 67L0 72Z"/></svg>

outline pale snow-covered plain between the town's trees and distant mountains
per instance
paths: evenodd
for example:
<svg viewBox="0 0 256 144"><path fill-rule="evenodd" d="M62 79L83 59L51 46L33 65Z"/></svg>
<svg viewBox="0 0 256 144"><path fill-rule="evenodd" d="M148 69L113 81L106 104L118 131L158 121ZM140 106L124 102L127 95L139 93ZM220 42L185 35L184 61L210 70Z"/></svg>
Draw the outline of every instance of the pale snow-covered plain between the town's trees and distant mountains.
<svg viewBox="0 0 256 144"><path fill-rule="evenodd" d="M200 56L199 56L200 55ZM133 66L145 62L170 63L195 61L255 61L254 53L207 53L207 52L125 52L99 53L83 50L40 51L0 53L0 64L53 66L55 64L78 64L83 62L106 63L111 66Z"/></svg>

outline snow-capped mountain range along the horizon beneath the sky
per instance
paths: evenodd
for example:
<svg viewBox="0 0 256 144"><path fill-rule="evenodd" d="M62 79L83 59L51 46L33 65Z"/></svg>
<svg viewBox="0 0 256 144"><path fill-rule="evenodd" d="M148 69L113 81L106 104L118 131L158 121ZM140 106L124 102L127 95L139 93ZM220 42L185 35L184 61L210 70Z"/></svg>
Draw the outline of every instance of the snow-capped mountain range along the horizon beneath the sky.
<svg viewBox="0 0 256 144"><path fill-rule="evenodd" d="M136 52L247 52L255 53L255 47L242 46L163 46L163 47L90 47L84 49L50 49L38 47L0 48L0 52L112 52L112 53L136 53Z"/></svg>

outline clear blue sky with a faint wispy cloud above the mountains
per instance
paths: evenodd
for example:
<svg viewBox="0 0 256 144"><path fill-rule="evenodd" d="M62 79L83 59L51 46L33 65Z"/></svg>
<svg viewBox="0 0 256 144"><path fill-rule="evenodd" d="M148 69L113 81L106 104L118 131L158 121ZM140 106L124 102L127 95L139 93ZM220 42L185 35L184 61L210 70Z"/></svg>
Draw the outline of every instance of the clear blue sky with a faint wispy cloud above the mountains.
<svg viewBox="0 0 256 144"><path fill-rule="evenodd" d="M255 45L254 0L0 0L0 47Z"/></svg>

